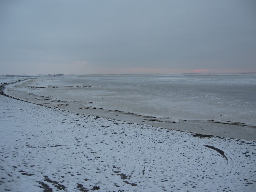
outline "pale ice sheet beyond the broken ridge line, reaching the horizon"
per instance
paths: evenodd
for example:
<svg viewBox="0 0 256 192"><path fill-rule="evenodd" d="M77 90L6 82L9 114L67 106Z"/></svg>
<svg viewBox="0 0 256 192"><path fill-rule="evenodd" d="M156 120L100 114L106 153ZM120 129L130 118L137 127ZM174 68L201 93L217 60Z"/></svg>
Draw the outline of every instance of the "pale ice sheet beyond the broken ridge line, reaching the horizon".
<svg viewBox="0 0 256 192"><path fill-rule="evenodd" d="M90 107L106 110L256 125L255 74L44 76L10 89L24 86L35 96L93 101Z"/></svg>

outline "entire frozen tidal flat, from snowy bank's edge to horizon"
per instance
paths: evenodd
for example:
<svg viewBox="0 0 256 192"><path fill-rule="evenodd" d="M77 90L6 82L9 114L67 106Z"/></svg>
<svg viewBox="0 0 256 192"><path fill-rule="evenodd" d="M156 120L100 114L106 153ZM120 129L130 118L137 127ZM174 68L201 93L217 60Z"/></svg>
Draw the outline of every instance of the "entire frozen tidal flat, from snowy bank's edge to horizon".
<svg viewBox="0 0 256 192"><path fill-rule="evenodd" d="M76 113L256 140L256 74L37 76L6 87Z"/></svg>

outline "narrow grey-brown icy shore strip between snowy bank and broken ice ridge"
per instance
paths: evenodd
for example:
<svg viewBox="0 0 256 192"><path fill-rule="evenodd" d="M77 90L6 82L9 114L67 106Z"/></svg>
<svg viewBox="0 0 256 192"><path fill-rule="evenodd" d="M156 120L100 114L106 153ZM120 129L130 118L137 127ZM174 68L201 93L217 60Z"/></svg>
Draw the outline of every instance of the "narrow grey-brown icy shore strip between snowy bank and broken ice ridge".
<svg viewBox="0 0 256 192"><path fill-rule="evenodd" d="M256 141L256 127L246 125L239 122L228 122L218 120L182 120L170 118L156 118L153 116L144 116L122 111L111 111L103 108L89 108L83 107L84 103L81 102L63 102L52 101L50 98L35 98L35 96L19 92L20 97L15 94L3 95L13 99L22 100L37 105L55 108L63 111L75 112L78 114L98 116L113 120L120 120L136 124L150 125L154 127L162 127L172 130L190 132L195 134L212 135L225 138L235 138ZM39 96L37 96L39 97ZM38 102L42 101L44 102Z"/></svg>

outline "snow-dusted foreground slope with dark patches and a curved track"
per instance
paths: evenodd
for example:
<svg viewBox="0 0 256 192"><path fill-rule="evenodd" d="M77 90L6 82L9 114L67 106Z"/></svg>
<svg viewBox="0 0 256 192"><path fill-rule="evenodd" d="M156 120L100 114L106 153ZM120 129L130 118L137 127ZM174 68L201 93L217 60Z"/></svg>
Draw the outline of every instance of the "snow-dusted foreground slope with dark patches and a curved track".
<svg viewBox="0 0 256 192"><path fill-rule="evenodd" d="M0 191L256 188L255 141L0 101Z"/></svg>

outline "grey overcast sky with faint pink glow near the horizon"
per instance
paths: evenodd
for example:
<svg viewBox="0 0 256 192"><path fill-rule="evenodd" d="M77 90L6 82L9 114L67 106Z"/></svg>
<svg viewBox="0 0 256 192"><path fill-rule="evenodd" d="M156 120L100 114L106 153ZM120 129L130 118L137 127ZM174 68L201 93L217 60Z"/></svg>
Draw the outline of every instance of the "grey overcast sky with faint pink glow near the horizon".
<svg viewBox="0 0 256 192"><path fill-rule="evenodd" d="M0 75L256 72L255 0L1 0Z"/></svg>

